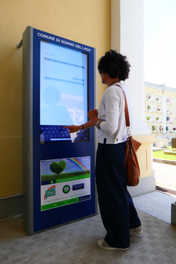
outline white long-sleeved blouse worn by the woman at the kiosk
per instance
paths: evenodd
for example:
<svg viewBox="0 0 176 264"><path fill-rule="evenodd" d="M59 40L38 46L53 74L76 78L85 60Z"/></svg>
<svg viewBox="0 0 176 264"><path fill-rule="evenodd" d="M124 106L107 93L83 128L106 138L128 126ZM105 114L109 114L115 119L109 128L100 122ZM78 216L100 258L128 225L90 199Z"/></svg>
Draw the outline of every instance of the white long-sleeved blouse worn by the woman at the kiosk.
<svg viewBox="0 0 176 264"><path fill-rule="evenodd" d="M117 83L124 89L128 112L130 117L130 131L132 129L132 115L130 100L126 88L122 83ZM101 130L98 130L98 142L106 144L118 144L126 141L127 128L125 122L125 100L122 89L115 84L108 87L104 92L98 108L98 118L103 120L100 123Z"/></svg>

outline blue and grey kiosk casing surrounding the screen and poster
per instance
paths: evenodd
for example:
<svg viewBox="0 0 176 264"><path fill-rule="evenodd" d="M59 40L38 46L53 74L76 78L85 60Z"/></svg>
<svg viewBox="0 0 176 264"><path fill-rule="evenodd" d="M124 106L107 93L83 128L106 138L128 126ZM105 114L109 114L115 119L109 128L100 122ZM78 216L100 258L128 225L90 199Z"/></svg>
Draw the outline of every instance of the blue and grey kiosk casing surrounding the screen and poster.
<svg viewBox="0 0 176 264"><path fill-rule="evenodd" d="M56 144L40 144L39 142L40 131L38 130L40 129L40 124L37 124L37 119L35 118L35 113L38 112L39 87L36 87L38 76L34 73L38 67L36 57L40 56L35 48L36 37L38 37L36 36L37 32L42 31L28 26L23 33L23 39L20 42L20 45L17 45L19 48L23 45L23 203L24 230L28 235L77 221L82 218L87 218L98 213L94 176L95 155L97 149L96 127L90 129L90 142ZM52 34L49 35L54 36ZM89 53L91 53L92 67L89 69L89 78L91 78L91 81L89 81L91 86L91 88L89 88L89 109L93 109L96 108L96 49L91 47L88 48L91 49L91 52ZM65 146L67 146L67 149L69 147L72 153L70 154L71 156L69 156L68 152L65 150ZM49 151L51 152L51 150L54 149L54 152L56 153L57 151L55 149L58 149L58 147L59 149L64 148L63 154L58 154L58 156L52 154L51 159L64 159L74 156L91 157L91 199L49 209L47 211L41 211L39 195L40 188L38 186L40 182L39 161L49 159ZM66 211L70 211L70 214L66 215ZM80 211L82 211L82 213ZM66 216L62 217L60 220L58 215L64 214ZM50 216L50 221L47 219L48 215Z"/></svg>

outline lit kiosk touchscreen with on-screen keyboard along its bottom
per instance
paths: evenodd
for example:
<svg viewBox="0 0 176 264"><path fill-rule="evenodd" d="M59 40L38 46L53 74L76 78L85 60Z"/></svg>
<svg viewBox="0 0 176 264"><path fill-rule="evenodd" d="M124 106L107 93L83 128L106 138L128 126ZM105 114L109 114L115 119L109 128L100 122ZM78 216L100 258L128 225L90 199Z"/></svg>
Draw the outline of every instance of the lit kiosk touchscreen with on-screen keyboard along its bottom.
<svg viewBox="0 0 176 264"><path fill-rule="evenodd" d="M41 143L89 141L87 129L63 128L87 122L88 54L41 40L40 69Z"/></svg>

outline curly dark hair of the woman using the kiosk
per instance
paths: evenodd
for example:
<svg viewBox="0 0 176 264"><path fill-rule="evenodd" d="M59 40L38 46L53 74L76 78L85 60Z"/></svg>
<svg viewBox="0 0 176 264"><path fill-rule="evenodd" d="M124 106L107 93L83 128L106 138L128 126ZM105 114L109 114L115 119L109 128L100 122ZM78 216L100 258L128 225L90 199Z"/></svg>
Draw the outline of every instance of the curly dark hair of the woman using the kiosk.
<svg viewBox="0 0 176 264"><path fill-rule="evenodd" d="M111 79L119 77L120 81L129 78L130 67L131 65L127 61L127 57L112 49L106 52L105 56L98 61L98 70L100 73L107 73Z"/></svg>

